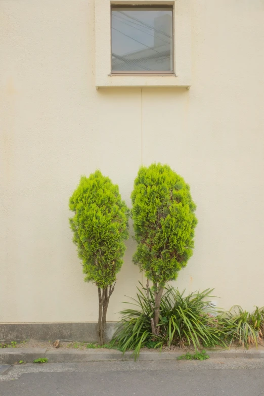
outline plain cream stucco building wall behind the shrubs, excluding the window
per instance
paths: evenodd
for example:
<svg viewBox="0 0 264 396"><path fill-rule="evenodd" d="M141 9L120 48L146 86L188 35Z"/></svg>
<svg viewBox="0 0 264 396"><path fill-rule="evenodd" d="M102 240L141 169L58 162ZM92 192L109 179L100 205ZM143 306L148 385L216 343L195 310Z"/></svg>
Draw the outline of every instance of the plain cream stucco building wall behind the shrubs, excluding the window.
<svg viewBox="0 0 264 396"><path fill-rule="evenodd" d="M0 321L97 320L68 198L100 168L130 206L141 162L154 161L197 203L179 288L264 305L263 21L262 0L193 0L190 91L96 90L94 1L0 2ZM141 279L134 251L130 238L109 320Z"/></svg>

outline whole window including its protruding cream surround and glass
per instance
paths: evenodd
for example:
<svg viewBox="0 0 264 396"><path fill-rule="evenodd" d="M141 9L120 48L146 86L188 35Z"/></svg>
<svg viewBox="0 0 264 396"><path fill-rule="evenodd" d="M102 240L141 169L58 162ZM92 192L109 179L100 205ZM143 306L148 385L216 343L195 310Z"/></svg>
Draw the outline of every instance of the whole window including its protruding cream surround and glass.
<svg viewBox="0 0 264 396"><path fill-rule="evenodd" d="M97 89L190 88L192 0L95 0L94 4Z"/></svg>

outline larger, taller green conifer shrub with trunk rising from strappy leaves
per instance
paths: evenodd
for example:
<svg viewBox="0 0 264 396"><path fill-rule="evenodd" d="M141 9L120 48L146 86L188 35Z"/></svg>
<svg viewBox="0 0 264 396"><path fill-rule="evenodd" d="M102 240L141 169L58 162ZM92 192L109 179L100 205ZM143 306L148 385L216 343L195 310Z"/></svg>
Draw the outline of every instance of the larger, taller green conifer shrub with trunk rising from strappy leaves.
<svg viewBox="0 0 264 396"><path fill-rule="evenodd" d="M165 283L177 278L194 247L196 205L190 187L168 165L142 166L131 194L135 239L133 261L153 282L152 332L158 334L160 301Z"/></svg>

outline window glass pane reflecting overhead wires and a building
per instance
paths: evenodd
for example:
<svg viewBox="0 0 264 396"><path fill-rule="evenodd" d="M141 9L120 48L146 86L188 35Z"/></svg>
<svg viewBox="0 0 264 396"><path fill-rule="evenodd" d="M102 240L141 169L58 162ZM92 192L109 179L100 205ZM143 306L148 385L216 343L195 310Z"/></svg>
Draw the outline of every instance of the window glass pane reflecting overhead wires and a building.
<svg viewBox="0 0 264 396"><path fill-rule="evenodd" d="M112 71L173 71L172 8L112 8Z"/></svg>

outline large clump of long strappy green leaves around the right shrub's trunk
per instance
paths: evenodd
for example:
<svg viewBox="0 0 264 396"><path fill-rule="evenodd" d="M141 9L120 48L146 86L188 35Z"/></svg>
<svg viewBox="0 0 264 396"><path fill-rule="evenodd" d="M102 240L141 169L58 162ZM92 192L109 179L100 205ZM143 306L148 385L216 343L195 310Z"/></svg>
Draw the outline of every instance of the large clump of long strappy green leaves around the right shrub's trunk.
<svg viewBox="0 0 264 396"><path fill-rule="evenodd" d="M178 289L165 288L160 303L159 334L155 335L151 331L154 293L149 287L138 288L137 298L132 298L137 308L121 311L114 341L123 352L134 350L135 359L145 346L186 345L196 350L217 345L226 347L227 318L208 302L212 290L184 296Z"/></svg>

